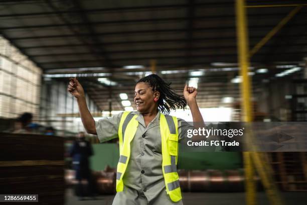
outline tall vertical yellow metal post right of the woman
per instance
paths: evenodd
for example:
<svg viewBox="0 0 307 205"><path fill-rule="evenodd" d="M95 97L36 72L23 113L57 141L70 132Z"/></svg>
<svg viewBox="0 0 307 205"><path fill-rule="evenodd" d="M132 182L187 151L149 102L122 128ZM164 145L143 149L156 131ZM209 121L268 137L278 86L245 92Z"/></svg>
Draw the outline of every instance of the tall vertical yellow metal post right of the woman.
<svg viewBox="0 0 307 205"><path fill-rule="evenodd" d="M245 12L245 1L236 0L236 26L237 26L237 47L238 62L240 64L241 98L242 98L242 116L245 122L252 121L252 108L250 103L250 78L248 76L249 68L249 49L248 49L248 32ZM254 181L254 172L251 161L251 153L243 153L245 168L245 189L247 205L256 204L256 186Z"/></svg>

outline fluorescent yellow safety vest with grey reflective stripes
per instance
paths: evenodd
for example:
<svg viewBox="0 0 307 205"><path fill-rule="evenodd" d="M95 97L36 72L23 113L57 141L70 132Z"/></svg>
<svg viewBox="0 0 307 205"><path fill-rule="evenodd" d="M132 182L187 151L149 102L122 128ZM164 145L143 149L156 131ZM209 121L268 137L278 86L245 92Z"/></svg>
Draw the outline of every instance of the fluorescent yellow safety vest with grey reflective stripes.
<svg viewBox="0 0 307 205"><path fill-rule="evenodd" d="M119 123L119 161L116 172L116 191L123 190L122 177L126 171L130 157L130 142L135 135L138 122L137 115L124 112ZM177 173L178 162L178 120L169 115L160 116L160 131L162 138L162 170L166 191L172 201L182 199Z"/></svg>

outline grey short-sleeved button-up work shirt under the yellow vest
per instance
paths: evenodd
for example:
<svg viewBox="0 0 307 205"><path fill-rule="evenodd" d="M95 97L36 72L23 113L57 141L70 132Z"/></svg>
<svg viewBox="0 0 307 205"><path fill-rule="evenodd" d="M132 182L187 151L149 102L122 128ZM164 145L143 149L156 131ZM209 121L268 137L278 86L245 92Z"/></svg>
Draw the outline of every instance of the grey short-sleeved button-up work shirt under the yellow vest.
<svg viewBox="0 0 307 205"><path fill-rule="evenodd" d="M96 122L100 142L118 137L122 114ZM173 202L166 193L162 171L160 112L147 127L139 112L132 114L138 115L136 118L138 127L130 144L130 158L123 176L124 189L122 192L117 192L113 204L182 204L181 200ZM185 121L178 119L179 142L183 142L186 136L183 133L192 127L182 122ZM131 201L127 203L127 200Z"/></svg>

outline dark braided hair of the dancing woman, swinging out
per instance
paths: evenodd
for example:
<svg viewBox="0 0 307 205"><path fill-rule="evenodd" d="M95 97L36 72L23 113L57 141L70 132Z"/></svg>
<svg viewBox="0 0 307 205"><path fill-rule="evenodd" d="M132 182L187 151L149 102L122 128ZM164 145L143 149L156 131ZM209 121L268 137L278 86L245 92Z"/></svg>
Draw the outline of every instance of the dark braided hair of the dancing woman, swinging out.
<svg viewBox="0 0 307 205"><path fill-rule="evenodd" d="M152 87L152 91L160 92L160 97L158 100L158 109L168 115L170 114L170 109L176 111L176 107L180 109L185 109L187 106L187 101L183 95L177 94L173 88L171 88L171 83L165 82L159 75L150 74L137 81L146 82Z"/></svg>

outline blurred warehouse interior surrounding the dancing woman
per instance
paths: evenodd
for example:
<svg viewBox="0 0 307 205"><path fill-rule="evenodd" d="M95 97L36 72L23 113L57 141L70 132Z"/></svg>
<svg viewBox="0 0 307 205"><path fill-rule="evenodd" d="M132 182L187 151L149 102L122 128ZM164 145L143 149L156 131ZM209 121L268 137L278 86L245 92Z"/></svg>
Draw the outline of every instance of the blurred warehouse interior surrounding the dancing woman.
<svg viewBox="0 0 307 205"><path fill-rule="evenodd" d="M196 87L205 122L307 121L306 16L303 0L0 1L0 193L112 204L118 142L87 133L95 197L78 200L69 150L85 130L71 77L95 121L135 111L135 84L151 73L179 94ZM171 115L193 121L189 108ZM306 152L179 156L184 204L307 200Z"/></svg>

